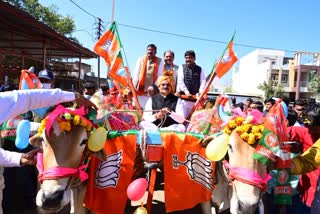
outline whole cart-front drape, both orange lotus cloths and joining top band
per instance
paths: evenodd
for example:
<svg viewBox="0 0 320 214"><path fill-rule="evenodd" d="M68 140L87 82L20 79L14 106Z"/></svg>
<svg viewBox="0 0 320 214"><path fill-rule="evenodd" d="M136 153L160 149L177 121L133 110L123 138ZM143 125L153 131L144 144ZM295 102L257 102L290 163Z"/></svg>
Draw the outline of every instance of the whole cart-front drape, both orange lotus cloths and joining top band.
<svg viewBox="0 0 320 214"><path fill-rule="evenodd" d="M167 212L184 210L209 201L215 165L201 148L202 135L168 131L109 131L105 144L108 160L92 158L85 206L94 213L123 213L126 189L133 175L136 144L146 156L147 145L163 145L165 206Z"/></svg>

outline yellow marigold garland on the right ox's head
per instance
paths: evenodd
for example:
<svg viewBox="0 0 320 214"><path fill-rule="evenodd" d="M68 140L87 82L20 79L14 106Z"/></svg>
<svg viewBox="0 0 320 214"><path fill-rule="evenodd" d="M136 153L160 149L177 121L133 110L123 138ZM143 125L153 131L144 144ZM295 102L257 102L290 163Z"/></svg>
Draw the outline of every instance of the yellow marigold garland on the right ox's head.
<svg viewBox="0 0 320 214"><path fill-rule="evenodd" d="M236 131L245 142L251 145L259 142L263 129L262 124L251 124L245 121L243 117L236 117L229 121L223 132L230 135L232 131Z"/></svg>

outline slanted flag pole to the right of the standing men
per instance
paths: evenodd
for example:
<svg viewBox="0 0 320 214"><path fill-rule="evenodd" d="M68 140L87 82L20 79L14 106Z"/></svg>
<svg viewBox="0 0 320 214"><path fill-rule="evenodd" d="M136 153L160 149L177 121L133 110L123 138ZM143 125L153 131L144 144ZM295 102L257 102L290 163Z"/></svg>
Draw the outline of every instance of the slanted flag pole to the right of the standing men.
<svg viewBox="0 0 320 214"><path fill-rule="evenodd" d="M221 57L218 59L218 62L216 62L214 65L213 65L213 68L210 72L210 78L208 79L207 81L207 84L206 84L206 87L204 88L204 90L202 91L202 93L200 94L199 98L197 99L197 101L195 102L194 106L192 107L189 115L187 116L187 120L190 120L191 118L191 115L193 114L193 112L199 107L200 103L202 102L203 98L205 95L207 95L207 93L209 92L209 89L211 87L211 84L214 80L214 78L217 76L217 73L216 73L216 68L217 68L217 65L220 64L221 62L221 59L223 58L224 54L226 53L227 49L228 49L228 46L230 44L230 42L233 40L234 38L234 35L235 35L236 32L233 33L231 39L229 40L228 44L227 44L227 47L224 49L224 51L222 52L221 54Z"/></svg>

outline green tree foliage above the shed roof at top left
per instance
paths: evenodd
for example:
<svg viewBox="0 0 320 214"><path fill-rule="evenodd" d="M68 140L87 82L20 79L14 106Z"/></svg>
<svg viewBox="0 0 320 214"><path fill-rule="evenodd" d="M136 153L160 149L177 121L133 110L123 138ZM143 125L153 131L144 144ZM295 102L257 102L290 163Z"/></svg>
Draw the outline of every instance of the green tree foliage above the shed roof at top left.
<svg viewBox="0 0 320 214"><path fill-rule="evenodd" d="M30 13L37 20L42 21L55 31L68 35L75 30L74 21L70 16L62 16L54 5L42 6L38 0L8 0L14 6Z"/></svg>

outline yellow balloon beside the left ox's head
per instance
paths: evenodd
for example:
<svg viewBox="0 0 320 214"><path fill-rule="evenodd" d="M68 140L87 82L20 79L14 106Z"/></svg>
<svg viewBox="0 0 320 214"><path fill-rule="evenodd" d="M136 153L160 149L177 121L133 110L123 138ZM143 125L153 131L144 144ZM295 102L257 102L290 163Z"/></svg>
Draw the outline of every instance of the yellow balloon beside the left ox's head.
<svg viewBox="0 0 320 214"><path fill-rule="evenodd" d="M91 151L100 151L106 142L107 131L103 127L97 128L89 137L88 147Z"/></svg>

